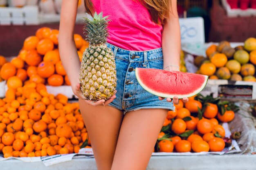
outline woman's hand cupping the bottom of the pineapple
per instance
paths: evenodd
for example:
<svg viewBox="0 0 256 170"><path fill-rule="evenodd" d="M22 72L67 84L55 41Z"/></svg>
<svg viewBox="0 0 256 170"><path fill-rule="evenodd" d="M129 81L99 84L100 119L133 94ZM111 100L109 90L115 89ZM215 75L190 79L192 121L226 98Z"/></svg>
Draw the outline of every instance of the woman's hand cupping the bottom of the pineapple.
<svg viewBox="0 0 256 170"><path fill-rule="evenodd" d="M81 92L81 88L80 88L80 83L76 84L73 92L74 94L79 98L79 99L83 99L85 101L86 104L89 104L89 105L92 105L92 106L98 106L98 105L101 105L103 104L104 106L105 105L108 105L110 104L117 96L114 94L110 99L108 100L104 100L104 99L101 99L97 102L94 102L94 101L91 101L91 100L88 100L88 99L85 99L85 97L83 96L83 93ZM117 91L115 91L116 93Z"/></svg>

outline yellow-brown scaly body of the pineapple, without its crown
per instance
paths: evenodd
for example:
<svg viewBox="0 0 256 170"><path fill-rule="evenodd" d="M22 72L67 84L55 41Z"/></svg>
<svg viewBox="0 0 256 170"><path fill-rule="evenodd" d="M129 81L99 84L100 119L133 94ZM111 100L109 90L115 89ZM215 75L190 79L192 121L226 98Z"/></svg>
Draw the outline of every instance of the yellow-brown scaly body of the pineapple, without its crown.
<svg viewBox="0 0 256 170"><path fill-rule="evenodd" d="M79 81L88 100L110 99L117 86L116 64L106 44L89 44L83 53Z"/></svg>

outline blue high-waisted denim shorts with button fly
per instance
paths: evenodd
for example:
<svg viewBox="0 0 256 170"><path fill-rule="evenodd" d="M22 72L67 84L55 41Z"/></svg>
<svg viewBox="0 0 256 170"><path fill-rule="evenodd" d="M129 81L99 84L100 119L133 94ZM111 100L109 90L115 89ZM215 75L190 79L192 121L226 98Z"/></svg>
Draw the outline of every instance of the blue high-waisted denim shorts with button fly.
<svg viewBox="0 0 256 170"><path fill-rule="evenodd" d="M162 48L149 51L128 51L107 43L115 56L117 70L116 98L109 104L124 114L143 108L174 110L173 102L159 100L158 96L144 90L135 76L135 68L163 69Z"/></svg>

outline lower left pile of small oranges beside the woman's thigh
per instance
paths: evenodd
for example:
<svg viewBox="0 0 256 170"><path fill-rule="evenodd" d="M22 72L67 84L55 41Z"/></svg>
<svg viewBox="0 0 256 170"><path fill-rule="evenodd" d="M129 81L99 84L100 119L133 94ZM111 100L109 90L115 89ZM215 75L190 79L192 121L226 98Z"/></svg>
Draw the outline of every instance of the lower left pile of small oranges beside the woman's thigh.
<svg viewBox="0 0 256 170"><path fill-rule="evenodd" d="M42 83L9 87L0 99L0 152L5 158L77 153L88 140L79 104L47 93Z"/></svg>

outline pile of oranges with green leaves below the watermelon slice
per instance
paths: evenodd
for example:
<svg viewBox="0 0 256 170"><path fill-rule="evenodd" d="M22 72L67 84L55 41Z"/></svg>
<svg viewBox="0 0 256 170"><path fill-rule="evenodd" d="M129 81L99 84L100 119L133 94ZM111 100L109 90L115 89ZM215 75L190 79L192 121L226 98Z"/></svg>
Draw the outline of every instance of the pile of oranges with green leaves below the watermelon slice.
<svg viewBox="0 0 256 170"><path fill-rule="evenodd" d="M218 106L207 103L202 119L197 117L203 104L194 97L184 104L182 100L168 111L159 133L155 152L218 152L225 148L225 129L219 122L229 122L235 117L232 110L221 115Z"/></svg>

